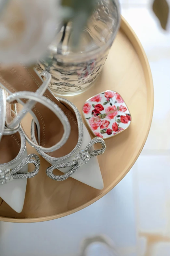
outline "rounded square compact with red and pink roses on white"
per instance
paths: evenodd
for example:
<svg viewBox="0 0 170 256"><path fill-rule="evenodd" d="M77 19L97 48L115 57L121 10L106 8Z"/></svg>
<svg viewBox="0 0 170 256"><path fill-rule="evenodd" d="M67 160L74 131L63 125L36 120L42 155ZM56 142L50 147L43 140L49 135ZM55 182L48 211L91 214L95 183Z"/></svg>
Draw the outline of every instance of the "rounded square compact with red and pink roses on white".
<svg viewBox="0 0 170 256"><path fill-rule="evenodd" d="M86 101L83 113L93 134L101 138L112 137L131 123L131 115L125 102L119 93L111 90Z"/></svg>

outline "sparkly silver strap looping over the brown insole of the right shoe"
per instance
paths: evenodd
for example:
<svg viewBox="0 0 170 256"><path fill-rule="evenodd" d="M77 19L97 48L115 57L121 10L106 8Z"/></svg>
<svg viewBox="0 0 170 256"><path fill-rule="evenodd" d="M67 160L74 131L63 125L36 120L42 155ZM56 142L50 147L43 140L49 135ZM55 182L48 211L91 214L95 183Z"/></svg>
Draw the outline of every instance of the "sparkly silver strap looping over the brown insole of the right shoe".
<svg viewBox="0 0 170 256"><path fill-rule="evenodd" d="M51 79L51 75L50 73L48 73L47 71L43 71L41 74L41 76L44 76L46 78L46 81L42 83L42 85L35 91L35 92L29 92L29 91L20 91L20 92L16 92L13 93L11 95L9 95L7 97L7 102L11 103L12 101L17 100L19 103L21 103L24 107L22 108L22 110L17 114L17 117L15 119L13 119L9 124L8 124L8 129L9 132L12 131L12 129L16 129L16 127L20 124L21 119L26 115L27 112L30 112L30 114L34 114L31 109L34 107L34 105L36 104L36 102L39 102L43 105L45 105L46 107L48 107L51 111L54 112L54 114L60 119L63 127L64 127L64 134L63 137L61 138L61 140L56 143L55 145L53 145L52 147L49 148L45 148L42 147L36 143L34 143L29 137L27 137L26 133L24 133L27 142L33 146L36 149L41 150L42 152L53 152L59 148L61 148L65 142L67 141L69 135L70 135L70 123L67 119L67 117L65 116L64 112L59 108L59 106L57 104L55 104L53 101L51 101L50 99L46 98L43 96L44 92L46 91L46 89L48 88L50 79ZM28 101L26 103L24 103L23 101L21 101L21 99L27 99ZM33 118L35 118L35 116L33 116ZM6 130L7 132L7 130ZM39 133L39 131L38 131ZM38 134L39 136L39 134Z"/></svg>

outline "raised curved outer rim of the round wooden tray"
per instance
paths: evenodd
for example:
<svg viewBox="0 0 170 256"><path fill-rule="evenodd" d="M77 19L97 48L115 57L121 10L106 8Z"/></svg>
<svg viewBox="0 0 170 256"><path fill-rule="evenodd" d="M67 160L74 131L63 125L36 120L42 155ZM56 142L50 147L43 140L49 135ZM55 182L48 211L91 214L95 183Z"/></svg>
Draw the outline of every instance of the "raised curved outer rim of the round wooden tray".
<svg viewBox="0 0 170 256"><path fill-rule="evenodd" d="M137 52L137 55L139 57L139 60L142 64L142 68L144 70L145 80L150 85L149 86L149 89L150 89L149 101L150 101L151 109L150 109L150 114L149 114L150 116L149 116L149 122L148 122L148 129L147 129L145 138L143 140L143 143L141 145L141 148L140 148L138 154L135 156L134 161L127 168L126 172L124 172L123 175L118 176L117 180L113 184L111 184L109 187L107 187L105 191L101 192L98 196L96 196L92 200L88 201L87 203L85 203L75 209L67 210L65 212L55 214L55 215L37 217L37 218L11 218L11 217L0 216L0 221L13 222L13 223L35 223L35 222L43 222L43 221L58 219L58 218L70 215L72 213L75 213L75 212L82 210L82 209L86 208L87 206L93 204L94 202L96 202L97 200L102 198L104 195L106 195L110 190L112 190L125 177L125 175L130 171L132 166L135 164L137 158L139 157L139 155L145 145L145 142L146 142L148 134L149 134L151 122L152 122L153 107L154 107L153 80L152 80L152 74L151 74L151 70L150 70L150 66L149 66L149 61L148 61L148 58L144 51L144 48L143 48L141 42L139 41L137 35L135 34L134 30L132 29L132 27L129 25L129 23L125 20L125 18L122 15L121 15L120 29L123 30L123 32L126 34L128 39L130 40L131 44L134 46L134 48Z"/></svg>

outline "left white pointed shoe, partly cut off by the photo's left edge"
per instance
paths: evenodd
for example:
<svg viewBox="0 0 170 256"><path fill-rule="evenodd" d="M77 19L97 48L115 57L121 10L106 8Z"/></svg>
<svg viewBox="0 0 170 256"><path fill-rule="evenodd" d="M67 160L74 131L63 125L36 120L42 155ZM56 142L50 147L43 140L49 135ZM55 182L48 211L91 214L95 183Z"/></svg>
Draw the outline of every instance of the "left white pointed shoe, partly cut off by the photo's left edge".
<svg viewBox="0 0 170 256"><path fill-rule="evenodd" d="M15 211L21 212L25 199L27 178L34 177L39 171L39 157L27 155L25 136L18 126L7 129L5 122L13 119L15 113L6 108L5 92L0 89L0 197ZM35 158L35 159L33 159ZM33 163L35 170L28 173L28 164Z"/></svg>

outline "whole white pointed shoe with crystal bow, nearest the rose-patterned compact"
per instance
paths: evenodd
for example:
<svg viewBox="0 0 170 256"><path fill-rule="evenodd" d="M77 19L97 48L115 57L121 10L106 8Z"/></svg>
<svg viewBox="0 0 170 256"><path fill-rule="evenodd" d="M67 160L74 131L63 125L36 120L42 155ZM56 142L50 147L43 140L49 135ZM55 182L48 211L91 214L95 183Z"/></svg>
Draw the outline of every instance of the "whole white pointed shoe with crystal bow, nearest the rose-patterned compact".
<svg viewBox="0 0 170 256"><path fill-rule="evenodd" d="M71 176L96 189L103 189L96 156L105 152L104 140L99 137L91 140L76 106L66 99L55 97L48 88L49 82L48 72L40 76L33 68L23 65L0 66L1 87L9 94L6 101L15 103L17 113L11 122L6 123L7 129L10 132L15 130L30 112L33 117L31 138L23 128L22 131L26 141L52 165L47 168L46 174L57 181ZM21 110L16 102L23 105ZM100 143L102 148L94 150L95 143ZM55 175L54 169L64 174Z"/></svg>

